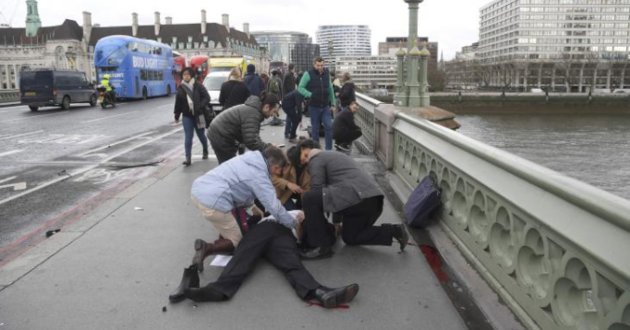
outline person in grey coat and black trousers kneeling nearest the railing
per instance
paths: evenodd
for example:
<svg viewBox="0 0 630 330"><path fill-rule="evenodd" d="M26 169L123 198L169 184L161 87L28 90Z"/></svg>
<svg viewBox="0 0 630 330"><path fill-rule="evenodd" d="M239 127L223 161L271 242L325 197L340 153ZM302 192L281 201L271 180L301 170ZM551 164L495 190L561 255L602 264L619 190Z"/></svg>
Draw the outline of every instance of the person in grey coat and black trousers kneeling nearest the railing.
<svg viewBox="0 0 630 330"><path fill-rule="evenodd" d="M392 245L400 243L402 251L409 235L400 224L374 226L383 212L383 193L375 180L365 173L350 156L322 151L311 140L298 144L300 161L308 164L311 190L302 196L306 216L304 233L307 249L304 259L332 255L335 229L324 212L333 213L333 221L341 222L341 238L348 245Z"/></svg>

